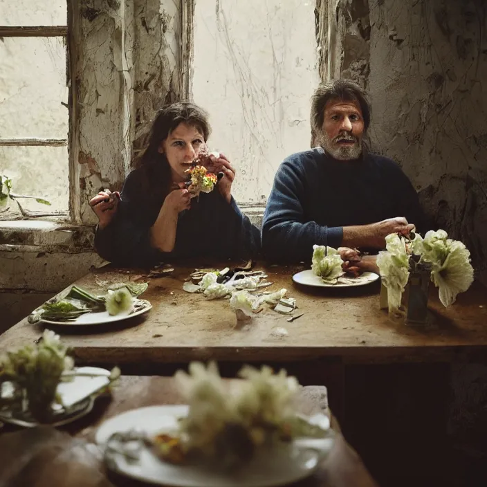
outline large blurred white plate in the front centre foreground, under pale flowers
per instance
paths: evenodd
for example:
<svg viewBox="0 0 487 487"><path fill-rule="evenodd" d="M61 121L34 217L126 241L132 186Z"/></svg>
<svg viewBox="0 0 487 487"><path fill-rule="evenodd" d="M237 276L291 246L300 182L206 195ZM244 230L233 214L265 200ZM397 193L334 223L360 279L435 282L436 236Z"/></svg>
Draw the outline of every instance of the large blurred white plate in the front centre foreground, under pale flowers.
<svg viewBox="0 0 487 487"><path fill-rule="evenodd" d="M172 432L178 418L187 414L186 405L153 406L131 410L103 423L96 433L96 442L106 446L112 434L139 430L154 436ZM329 429L329 419L317 414L310 419ZM105 454L107 465L122 475L157 485L173 487L273 487L293 483L311 475L327 456L333 435L324 439L296 440L290 448L259 454L238 472L223 473L195 465L174 465L161 461L151 450L140 447L138 461L129 461L121 452Z"/></svg>

